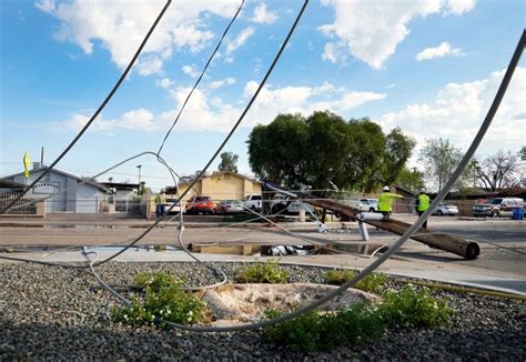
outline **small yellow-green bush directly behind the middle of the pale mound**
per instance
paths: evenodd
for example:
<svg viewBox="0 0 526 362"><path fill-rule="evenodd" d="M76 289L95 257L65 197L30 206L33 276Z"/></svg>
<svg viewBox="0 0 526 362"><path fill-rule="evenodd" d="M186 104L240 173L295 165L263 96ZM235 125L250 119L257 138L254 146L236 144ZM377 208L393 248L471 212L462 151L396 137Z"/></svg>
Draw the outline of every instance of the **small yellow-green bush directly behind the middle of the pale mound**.
<svg viewBox="0 0 526 362"><path fill-rule="evenodd" d="M267 261L235 270L237 283L280 284L289 282L289 272L280 268L279 261Z"/></svg>

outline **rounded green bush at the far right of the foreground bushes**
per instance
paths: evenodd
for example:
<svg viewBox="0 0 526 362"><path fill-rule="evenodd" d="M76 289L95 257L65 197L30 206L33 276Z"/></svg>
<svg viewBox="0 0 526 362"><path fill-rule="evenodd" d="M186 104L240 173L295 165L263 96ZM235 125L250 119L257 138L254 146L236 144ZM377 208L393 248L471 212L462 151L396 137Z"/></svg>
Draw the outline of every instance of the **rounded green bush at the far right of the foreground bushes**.
<svg viewBox="0 0 526 362"><path fill-rule="evenodd" d="M401 291L387 291L378 312L390 326L436 328L449 321L453 310L447 300L432 296L429 289L417 291L409 284Z"/></svg>

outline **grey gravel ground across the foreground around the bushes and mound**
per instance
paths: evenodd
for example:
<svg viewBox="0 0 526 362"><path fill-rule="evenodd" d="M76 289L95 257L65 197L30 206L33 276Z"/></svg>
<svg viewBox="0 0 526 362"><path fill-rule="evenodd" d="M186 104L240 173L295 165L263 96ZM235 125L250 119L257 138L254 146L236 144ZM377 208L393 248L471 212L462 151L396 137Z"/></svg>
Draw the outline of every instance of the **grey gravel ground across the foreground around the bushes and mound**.
<svg viewBox="0 0 526 362"><path fill-rule="evenodd" d="M229 276L235 264L219 265ZM325 270L286 267L293 282L321 282ZM97 271L108 283L131 283L139 271L184 275L191 285L216 282L194 263L108 263ZM396 280L393 286L399 285ZM266 342L257 331L188 333L113 323L115 300L87 270L0 263L0 361L526 361L524 303L471 293L449 296L457 310L441 330L391 331L374 344L301 353Z"/></svg>

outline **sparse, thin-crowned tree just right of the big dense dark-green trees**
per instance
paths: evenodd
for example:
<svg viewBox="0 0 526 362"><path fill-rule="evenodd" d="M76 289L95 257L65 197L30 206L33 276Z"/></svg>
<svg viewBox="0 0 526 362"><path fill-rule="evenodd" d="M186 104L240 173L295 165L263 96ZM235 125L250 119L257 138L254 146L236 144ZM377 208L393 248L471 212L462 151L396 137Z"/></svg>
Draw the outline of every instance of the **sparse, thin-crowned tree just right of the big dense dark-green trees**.
<svg viewBox="0 0 526 362"><path fill-rule="evenodd" d="M442 138L427 140L419 153L419 161L425 164L425 178L442 190L456 165L461 162L462 151Z"/></svg>

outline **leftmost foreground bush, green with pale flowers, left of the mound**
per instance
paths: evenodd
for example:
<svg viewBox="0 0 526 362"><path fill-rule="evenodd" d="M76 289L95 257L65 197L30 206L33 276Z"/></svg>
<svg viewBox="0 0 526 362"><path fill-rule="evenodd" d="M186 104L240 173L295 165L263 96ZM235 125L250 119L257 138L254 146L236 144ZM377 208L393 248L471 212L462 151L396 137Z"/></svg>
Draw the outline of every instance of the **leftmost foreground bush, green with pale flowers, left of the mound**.
<svg viewBox="0 0 526 362"><path fill-rule="evenodd" d="M205 315L206 303L193 293L181 290L182 282L169 274L141 273L135 276L135 283L144 286L144 298L132 295L130 305L112 309L113 321L165 326L160 320L191 324Z"/></svg>

